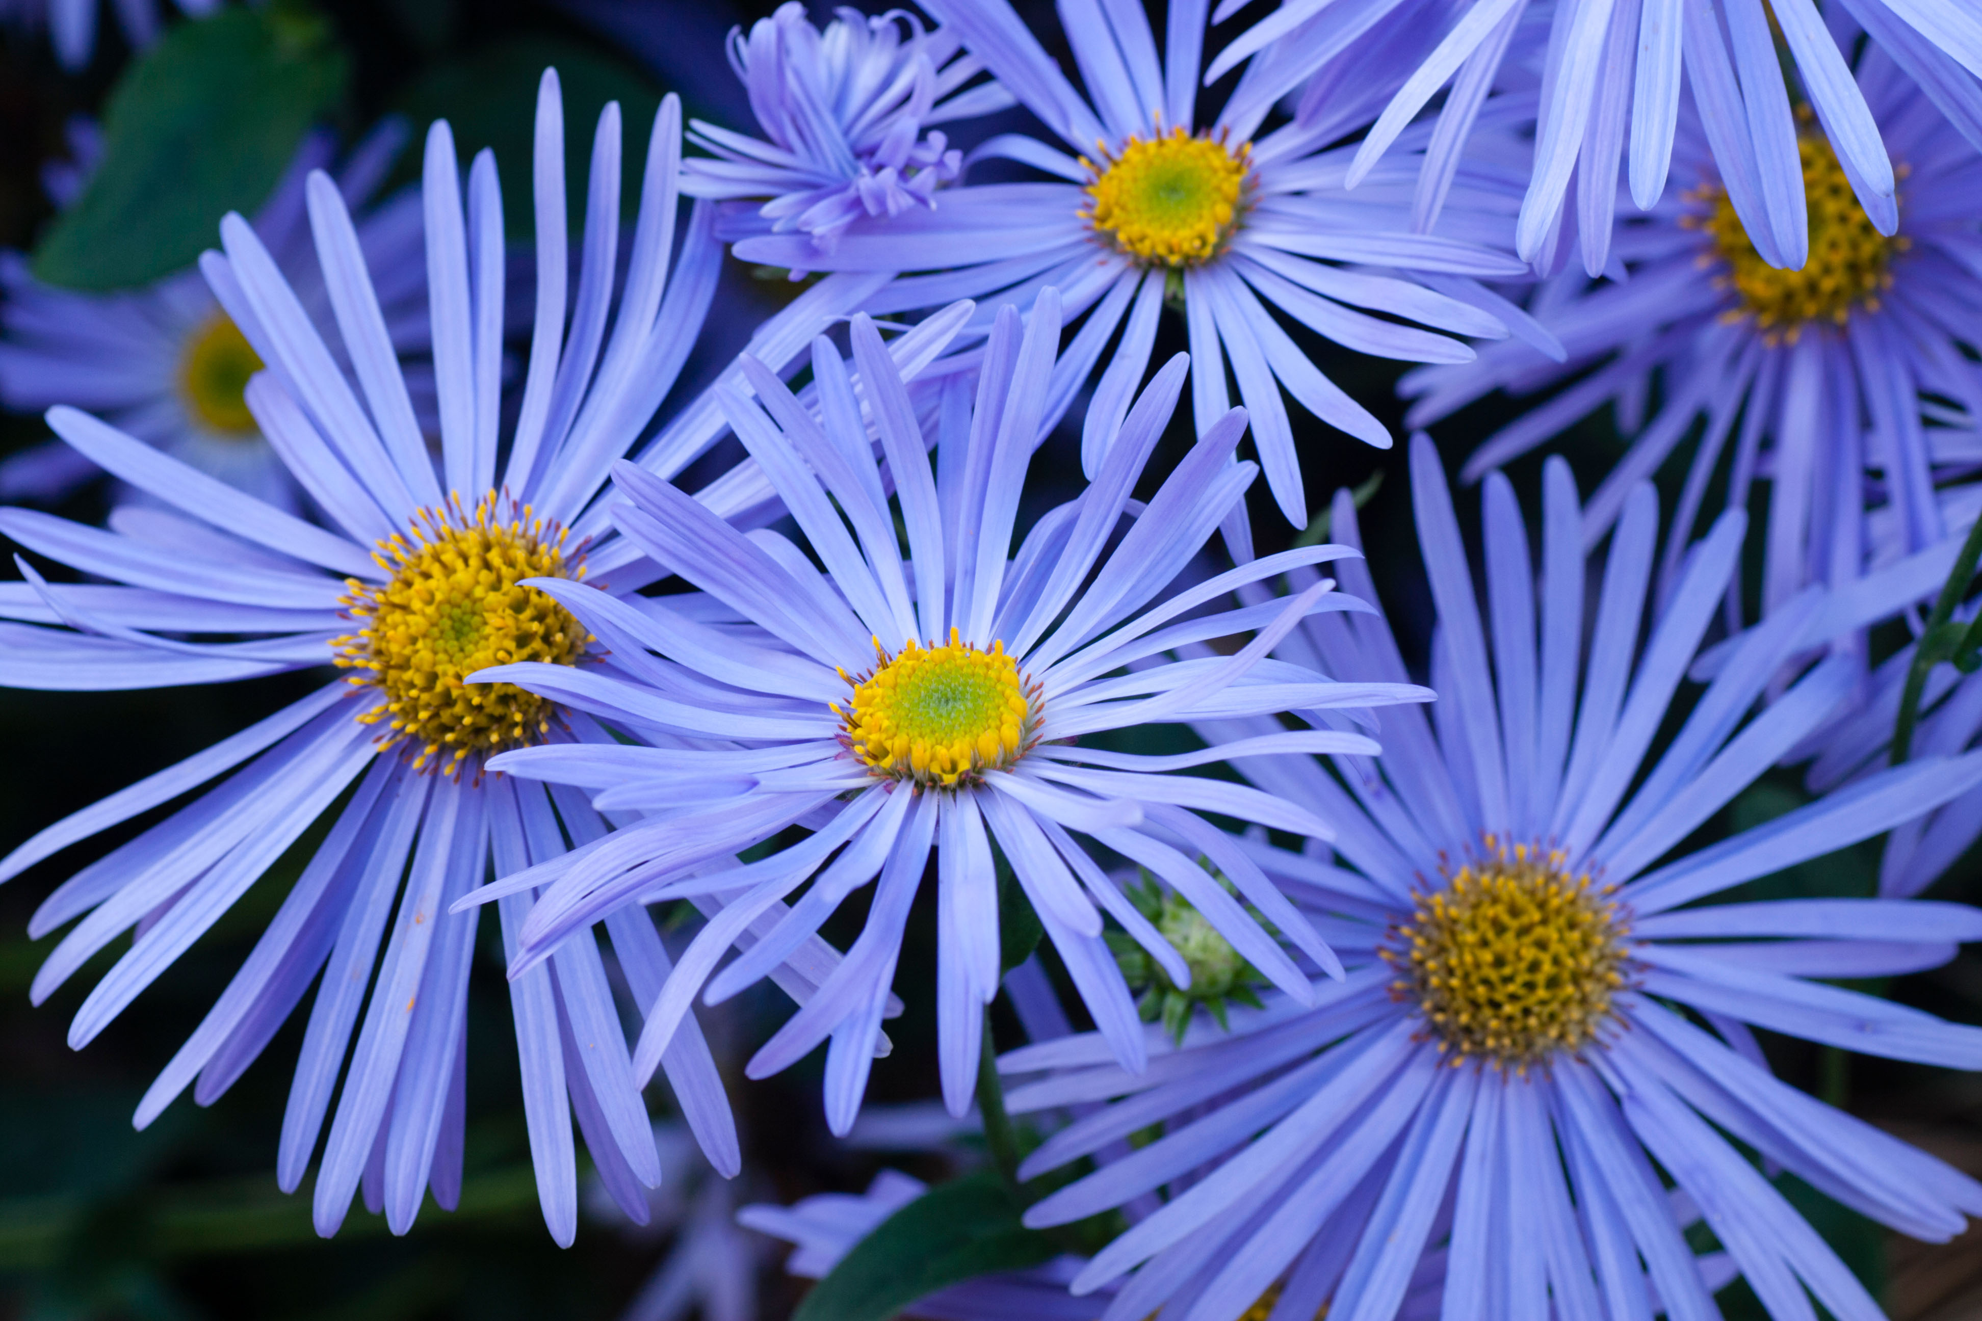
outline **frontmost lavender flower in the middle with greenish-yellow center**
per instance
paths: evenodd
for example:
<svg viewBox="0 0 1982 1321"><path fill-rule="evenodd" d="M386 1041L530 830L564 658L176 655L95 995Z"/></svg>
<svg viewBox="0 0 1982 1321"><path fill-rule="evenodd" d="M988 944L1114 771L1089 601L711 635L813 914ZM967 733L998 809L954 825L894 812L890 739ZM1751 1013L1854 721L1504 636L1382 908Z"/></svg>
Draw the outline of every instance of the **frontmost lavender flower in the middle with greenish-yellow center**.
<svg viewBox="0 0 1982 1321"><path fill-rule="evenodd" d="M955 325L967 313L959 307L941 319ZM1082 743L1225 711L1300 711L1332 723L1340 717L1330 711L1340 707L1421 701L1429 693L1409 683L1336 683L1266 656L1306 612L1360 606L1326 592L1326 584L1290 604L1191 618L1241 584L1344 555L1338 547L1288 551L1187 590L1169 588L1257 475L1255 465L1231 461L1245 430L1245 412L1231 410L1146 507L1132 507L1130 493L1183 388L1181 355L1130 410L1094 483L1046 513L1013 555L1019 491L1046 408L1058 331L1052 291L1041 295L1023 343L1017 309L1001 311L975 406L961 378L951 378L941 400L934 461L928 434L866 319L852 325L852 349L880 459L862 400L830 343L813 347L819 416L769 370L747 362L769 416L735 394L725 394L723 404L826 574L783 537L745 537L672 485L620 465L616 481L628 497L612 511L620 533L723 606L717 616L700 606L698 618L727 616L731 626L696 628L670 598L644 602L640 612L545 580L541 590L605 640L618 663L636 671L634 681L545 663L482 675L575 705L646 745L523 749L492 762L521 778L589 788L603 812L648 814L597 848L474 897L543 885L523 933L519 970L571 931L628 903L723 897L721 915L688 947L648 1012L636 1054L642 1075L704 982L712 1002L743 990L878 873L846 963L747 1069L753 1077L775 1073L830 1038L826 1119L844 1133L866 1089L902 929L932 848L939 1062L951 1113L969 1105L983 1006L999 986L993 842L1130 1067L1144 1058L1142 1028L1102 941L1102 915L1114 917L1173 980L1187 972L1076 834L1189 895L1261 974L1290 994L1306 994L1306 976L1199 867L1199 854L1298 953L1334 968L1314 929L1199 812L1306 836L1324 836L1328 826L1259 790L1167 772L1272 751L1372 751L1370 739L1340 729L1278 729L1177 757ZM896 511L908 557L896 539ZM1167 656L1239 634L1257 636L1233 656ZM795 824L809 830L801 842L731 867L735 854L781 840ZM789 917L771 915L771 905L807 883ZM717 972L737 941L747 943L745 953Z"/></svg>

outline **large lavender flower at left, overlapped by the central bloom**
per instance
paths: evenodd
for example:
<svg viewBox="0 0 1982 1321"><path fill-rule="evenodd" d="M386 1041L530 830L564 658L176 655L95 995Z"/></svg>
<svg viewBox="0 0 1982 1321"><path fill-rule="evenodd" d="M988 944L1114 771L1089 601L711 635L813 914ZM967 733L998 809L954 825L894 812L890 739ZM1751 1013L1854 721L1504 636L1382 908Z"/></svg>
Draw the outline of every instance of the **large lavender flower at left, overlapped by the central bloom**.
<svg viewBox="0 0 1982 1321"><path fill-rule="evenodd" d="M721 250L706 206L686 224L670 269L678 158L680 107L670 97L654 121L610 335L605 293L618 259L610 222L606 242L587 246L567 335L563 123L557 79L545 75L535 170L537 339L507 456L497 454L503 222L496 160L490 152L476 158L464 208L454 141L448 125L436 123L426 141L424 228L438 471L357 230L337 186L317 172L305 186L309 222L351 374L240 216L222 224L226 255L208 254L202 267L268 364L248 382L246 404L327 525L222 485L73 408L52 410L50 424L161 505L143 525L147 537L0 511L0 531L22 547L107 580L55 586L16 560L30 582L6 584L6 614L69 628L0 626L0 681L8 685L103 691L345 667L309 697L50 826L0 862L0 875L18 875L99 830L194 794L69 877L30 925L40 937L81 917L42 966L38 1002L137 927L129 953L71 1024L69 1042L81 1048L313 822L327 824L254 953L137 1113L139 1127L151 1123L194 1083L202 1103L226 1091L321 970L277 1176L291 1190L303 1178L345 1071L315 1182L323 1234L343 1222L361 1182L367 1204L385 1206L398 1232L428 1188L442 1206L454 1204L478 923L474 915L448 917L448 903L480 885L492 865L517 871L606 828L583 798L486 774L499 749L603 735L533 693L464 677L525 656L559 667L597 658L583 626L521 580L579 584L589 568L612 560L610 543L587 545L565 529L603 483L606 461L638 438L672 386L714 293ZM601 117L593 194L618 216L618 107ZM630 559L618 564L626 568ZM626 572L622 582L638 582L638 574ZM196 640L202 636L246 640ZM210 784L218 776L226 778ZM525 907L517 897L501 913L511 947ZM642 1000L658 994L670 965L652 923L630 911L614 915L608 931L630 992ZM660 1178L593 933L577 933L551 955L551 966L517 978L511 1006L543 1210L553 1236L569 1242L577 1216L573 1117L616 1196L638 1198L642 1182ZM676 1038L668 1069L710 1159L733 1170L729 1109L692 1024Z"/></svg>

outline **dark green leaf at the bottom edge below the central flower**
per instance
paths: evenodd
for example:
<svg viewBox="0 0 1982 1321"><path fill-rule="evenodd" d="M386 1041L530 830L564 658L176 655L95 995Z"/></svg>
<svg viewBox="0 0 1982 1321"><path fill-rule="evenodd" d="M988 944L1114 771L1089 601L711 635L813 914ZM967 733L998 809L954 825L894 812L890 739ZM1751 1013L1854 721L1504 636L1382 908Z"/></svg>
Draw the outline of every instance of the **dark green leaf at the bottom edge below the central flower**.
<svg viewBox="0 0 1982 1321"><path fill-rule="evenodd" d="M945 1285L1058 1256L1052 1238L1019 1222L1021 1212L995 1170L937 1184L854 1244L791 1321L886 1321Z"/></svg>

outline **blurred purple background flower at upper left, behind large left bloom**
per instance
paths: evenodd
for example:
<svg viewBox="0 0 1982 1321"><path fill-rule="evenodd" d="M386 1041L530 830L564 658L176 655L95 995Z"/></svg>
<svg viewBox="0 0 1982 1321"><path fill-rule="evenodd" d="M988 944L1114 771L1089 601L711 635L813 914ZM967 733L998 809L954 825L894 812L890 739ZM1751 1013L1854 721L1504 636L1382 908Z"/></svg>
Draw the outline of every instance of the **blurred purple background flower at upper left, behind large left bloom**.
<svg viewBox="0 0 1982 1321"><path fill-rule="evenodd" d="M386 123L343 164L337 188L361 208L359 248L375 271L381 313L396 355L426 349L426 263L420 198L404 194L363 212L404 145ZM303 141L287 174L256 220L256 234L319 325L329 293L309 242L305 180L329 164L331 141ZM293 511L297 483L262 438L248 408L248 378L262 358L222 311L196 269L119 293L44 285L26 257L0 254L0 404L40 412L52 404L89 408L139 440ZM416 412L432 414L432 378L414 374ZM48 442L0 463L0 497L59 499L99 475L89 459Z"/></svg>

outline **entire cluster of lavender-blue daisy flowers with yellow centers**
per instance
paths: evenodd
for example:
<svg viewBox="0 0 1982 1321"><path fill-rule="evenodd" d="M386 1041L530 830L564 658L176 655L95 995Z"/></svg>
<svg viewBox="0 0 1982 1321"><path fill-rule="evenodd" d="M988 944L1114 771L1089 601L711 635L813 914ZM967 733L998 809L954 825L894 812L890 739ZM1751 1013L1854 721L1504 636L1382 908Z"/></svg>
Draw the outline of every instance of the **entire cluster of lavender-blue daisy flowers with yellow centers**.
<svg viewBox="0 0 1982 1321"><path fill-rule="evenodd" d="M932 996L941 1103L1046 1246L914 1315L1705 1321L1740 1277L1871 1321L1780 1172L1923 1240L1982 1216L1756 1036L1982 1067L1982 1028L1841 984L1982 939L1919 897L1982 830L1982 679L1932 669L1895 757L1881 642L1982 513L1982 20L1159 8L783 4L725 51L755 125L608 105L583 216L545 71L533 259L525 162L440 121L385 198L404 129L311 139L147 289L0 265L0 400L57 438L0 463L0 685L317 683L0 860L115 832L30 923L36 1002L115 953L75 1048L289 860L139 1127L303 1016L277 1182L402 1234L460 1198L505 976L569 1244L581 1139L642 1224L690 1143L739 1174L704 1016L769 980L729 1085L825 1048L844 1137ZM67 61L87 14L52 6ZM725 257L797 297L696 380ZM1308 489L1393 444L1356 355L1413 364L1429 630ZM1461 456L1469 539L1421 428L1486 396L1528 404ZM1603 410L1627 448L1524 511L1500 467ZM99 475L105 525L38 507ZM1726 830L1784 764L1808 802ZM1877 893L1748 887L1881 836ZM932 988L896 982L918 905ZM1031 1040L995 1056L1001 996ZM737 1220L830 1275L924 1196L702 1180L636 1311L749 1315Z"/></svg>

